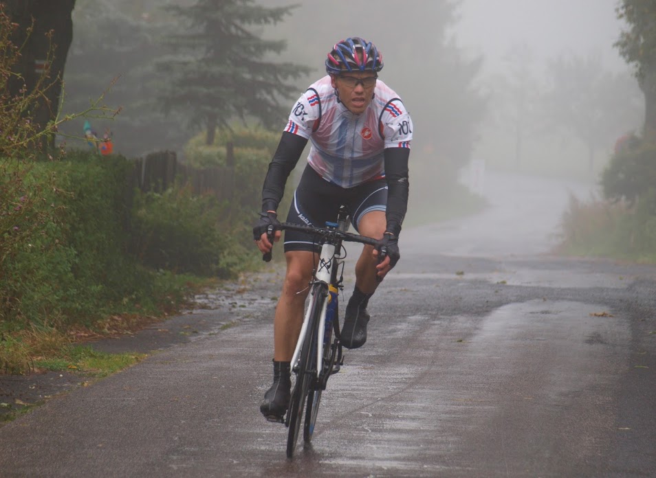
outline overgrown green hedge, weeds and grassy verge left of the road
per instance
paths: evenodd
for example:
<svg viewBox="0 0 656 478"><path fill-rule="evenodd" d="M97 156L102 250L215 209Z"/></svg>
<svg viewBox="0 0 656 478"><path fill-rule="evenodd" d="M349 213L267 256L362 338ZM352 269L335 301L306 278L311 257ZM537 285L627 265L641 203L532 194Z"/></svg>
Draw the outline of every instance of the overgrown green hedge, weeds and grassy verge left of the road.
<svg viewBox="0 0 656 478"><path fill-rule="evenodd" d="M66 122L118 111L101 95L81 113L35 122L54 82L45 69L28 86L12 43L20 25L1 8L0 23L0 374L103 376L141 357L78 344L161 320L199 289L252 268L243 238L259 201L222 220L225 204L186 185L133 190L130 159L54 148ZM250 163L241 181L250 186L264 168Z"/></svg>

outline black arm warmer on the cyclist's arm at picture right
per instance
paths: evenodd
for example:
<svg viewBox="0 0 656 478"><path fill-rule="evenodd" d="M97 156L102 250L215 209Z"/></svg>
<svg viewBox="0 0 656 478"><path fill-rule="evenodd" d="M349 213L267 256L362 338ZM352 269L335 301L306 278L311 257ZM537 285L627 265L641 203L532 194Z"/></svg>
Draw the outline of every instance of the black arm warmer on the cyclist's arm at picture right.
<svg viewBox="0 0 656 478"><path fill-rule="evenodd" d="M399 236L403 218L408 210L408 158L409 148L386 148L385 179L387 181L387 229Z"/></svg>

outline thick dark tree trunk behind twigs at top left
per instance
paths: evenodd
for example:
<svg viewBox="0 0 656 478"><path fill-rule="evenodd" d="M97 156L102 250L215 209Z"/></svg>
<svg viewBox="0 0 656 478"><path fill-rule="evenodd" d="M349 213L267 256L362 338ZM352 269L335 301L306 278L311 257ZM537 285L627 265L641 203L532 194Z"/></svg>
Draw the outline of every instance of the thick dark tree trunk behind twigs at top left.
<svg viewBox="0 0 656 478"><path fill-rule="evenodd" d="M14 38L16 45L24 45L17 65L16 73L22 80L10 83L10 94L18 95L23 85L27 91L33 91L43 73L43 67L50 70L45 85L45 100L41 101L34 113L34 122L41 129L57 117L64 76L64 65L68 49L73 41L72 12L76 0L5 0L7 14L20 26ZM34 30L28 37L28 28ZM49 32L52 36L48 37ZM48 54L52 53L52 58ZM50 65L44 65L50 60ZM54 137L48 139L47 146L54 146Z"/></svg>

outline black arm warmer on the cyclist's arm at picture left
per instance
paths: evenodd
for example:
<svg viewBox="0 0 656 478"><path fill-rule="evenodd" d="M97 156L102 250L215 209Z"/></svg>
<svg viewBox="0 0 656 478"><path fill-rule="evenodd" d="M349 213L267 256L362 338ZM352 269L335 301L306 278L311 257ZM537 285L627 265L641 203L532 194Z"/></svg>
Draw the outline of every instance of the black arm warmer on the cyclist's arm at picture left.
<svg viewBox="0 0 656 478"><path fill-rule="evenodd" d="M276 211L285 192L289 173L294 170L307 139L293 133L283 132L278 149L269 163L267 177L262 187L262 212Z"/></svg>

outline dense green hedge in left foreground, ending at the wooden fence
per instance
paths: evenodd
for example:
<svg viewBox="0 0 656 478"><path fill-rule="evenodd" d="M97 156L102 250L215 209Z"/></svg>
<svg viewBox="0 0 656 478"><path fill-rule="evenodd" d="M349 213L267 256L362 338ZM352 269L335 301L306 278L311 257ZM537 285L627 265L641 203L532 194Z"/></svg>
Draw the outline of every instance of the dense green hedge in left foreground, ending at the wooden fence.
<svg viewBox="0 0 656 478"><path fill-rule="evenodd" d="M111 313L148 313L182 293L131 255L130 172L125 158L82 153L26 170L25 184L48 187L35 190L17 226L30 234L0 262L0 277L10 278L0 284L2 328L89 326Z"/></svg>

